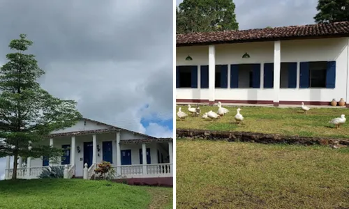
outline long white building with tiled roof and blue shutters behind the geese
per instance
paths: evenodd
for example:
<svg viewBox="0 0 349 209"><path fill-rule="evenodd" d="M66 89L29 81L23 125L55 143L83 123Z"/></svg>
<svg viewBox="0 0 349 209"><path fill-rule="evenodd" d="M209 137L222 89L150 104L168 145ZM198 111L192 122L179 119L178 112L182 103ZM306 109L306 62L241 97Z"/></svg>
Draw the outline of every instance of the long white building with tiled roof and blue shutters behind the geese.
<svg viewBox="0 0 349 209"><path fill-rule="evenodd" d="M349 100L349 22L177 35L177 102ZM349 104L346 104L349 107Z"/></svg>

